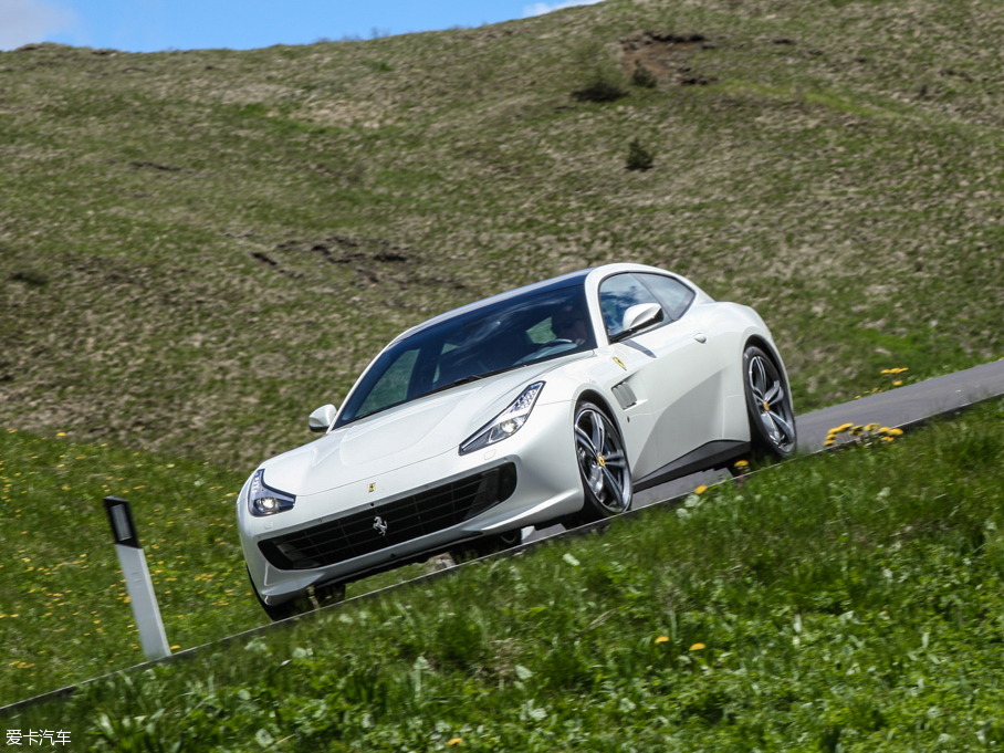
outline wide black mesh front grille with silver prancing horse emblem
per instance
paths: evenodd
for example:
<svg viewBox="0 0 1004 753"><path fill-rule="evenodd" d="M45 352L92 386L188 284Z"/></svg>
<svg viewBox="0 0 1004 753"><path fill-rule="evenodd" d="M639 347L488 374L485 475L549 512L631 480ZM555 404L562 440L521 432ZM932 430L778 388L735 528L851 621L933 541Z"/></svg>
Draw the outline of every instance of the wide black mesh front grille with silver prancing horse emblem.
<svg viewBox="0 0 1004 753"><path fill-rule="evenodd" d="M452 483L259 542L279 569L311 569L425 536L480 515L512 496L516 467L506 463ZM379 523L377 522L379 517ZM379 524L386 529L381 534Z"/></svg>

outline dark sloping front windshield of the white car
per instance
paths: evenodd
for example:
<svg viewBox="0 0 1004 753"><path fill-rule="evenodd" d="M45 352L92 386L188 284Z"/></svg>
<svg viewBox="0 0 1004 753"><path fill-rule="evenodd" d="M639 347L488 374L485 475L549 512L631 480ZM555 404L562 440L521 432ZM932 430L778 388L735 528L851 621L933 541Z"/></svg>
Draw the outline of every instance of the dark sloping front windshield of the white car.
<svg viewBox="0 0 1004 753"><path fill-rule="evenodd" d="M335 426L423 395L596 347L582 285L530 293L417 332L380 355Z"/></svg>

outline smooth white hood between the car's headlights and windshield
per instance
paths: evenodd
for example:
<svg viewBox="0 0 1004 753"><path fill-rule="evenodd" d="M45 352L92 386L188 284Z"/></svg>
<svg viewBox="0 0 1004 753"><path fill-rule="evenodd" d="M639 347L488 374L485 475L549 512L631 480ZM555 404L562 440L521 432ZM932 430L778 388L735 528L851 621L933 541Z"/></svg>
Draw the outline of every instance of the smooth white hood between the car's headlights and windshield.
<svg viewBox="0 0 1004 753"><path fill-rule="evenodd" d="M487 377L336 429L262 463L273 489L303 496L422 462L460 443L548 372L590 356L578 353ZM546 393L546 387L544 388Z"/></svg>

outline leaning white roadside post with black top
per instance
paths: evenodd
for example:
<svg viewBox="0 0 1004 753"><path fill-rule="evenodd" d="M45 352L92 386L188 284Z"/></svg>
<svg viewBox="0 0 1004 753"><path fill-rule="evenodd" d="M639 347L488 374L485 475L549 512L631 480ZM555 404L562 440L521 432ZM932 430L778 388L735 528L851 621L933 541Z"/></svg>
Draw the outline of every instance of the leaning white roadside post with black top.
<svg viewBox="0 0 1004 753"><path fill-rule="evenodd" d="M154 593L154 582L146 566L146 554L139 546L129 502L117 496L106 496L105 512L108 513L112 535L115 536L115 551L118 553L118 564L122 565L122 574L126 579L129 603L133 605L133 618L139 628L143 652L150 660L169 657L170 646L164 631L164 621L160 619L157 594Z"/></svg>

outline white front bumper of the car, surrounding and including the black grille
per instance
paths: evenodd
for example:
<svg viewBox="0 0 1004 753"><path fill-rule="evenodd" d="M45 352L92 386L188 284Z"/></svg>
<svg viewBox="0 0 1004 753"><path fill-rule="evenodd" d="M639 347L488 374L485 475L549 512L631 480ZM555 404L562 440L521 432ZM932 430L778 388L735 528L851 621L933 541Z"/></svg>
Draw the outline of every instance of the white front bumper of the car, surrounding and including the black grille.
<svg viewBox="0 0 1004 753"><path fill-rule="evenodd" d="M293 510L278 515L250 515L245 488L238 498L238 522L259 595L269 604L281 604L310 586L359 579L454 543L577 512L583 491L572 439L572 412L571 402L540 405L516 435L498 445L469 456L460 456L454 448L366 483L300 496ZM511 492L496 490L498 499L488 500L494 504L484 504L484 483L471 487L471 480L493 475L504 485L504 475L510 472L515 477L514 488ZM466 485L473 491L467 502L469 510L462 509L462 499L459 506L456 500L442 499L445 489L462 490ZM479 490L480 500L474 499ZM479 504L484 509L479 511ZM429 511L446 519L422 522L412 515L409 523L408 510L419 514ZM384 534L377 517L387 526ZM337 541L339 530L352 540L347 556Z"/></svg>

